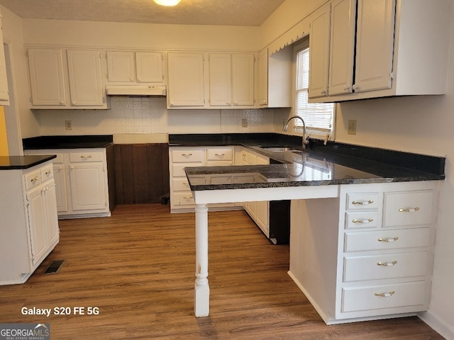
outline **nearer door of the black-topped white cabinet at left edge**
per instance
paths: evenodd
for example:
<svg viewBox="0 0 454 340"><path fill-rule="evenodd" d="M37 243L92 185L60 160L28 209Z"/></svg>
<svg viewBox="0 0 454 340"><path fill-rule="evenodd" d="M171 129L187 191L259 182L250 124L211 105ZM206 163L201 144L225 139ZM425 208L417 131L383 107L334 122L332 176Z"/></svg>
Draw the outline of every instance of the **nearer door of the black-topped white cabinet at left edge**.
<svg viewBox="0 0 454 340"><path fill-rule="evenodd" d="M31 261L33 266L43 257L48 250L48 233L46 230L46 207L44 192L41 186L28 191L27 212L30 228Z"/></svg>

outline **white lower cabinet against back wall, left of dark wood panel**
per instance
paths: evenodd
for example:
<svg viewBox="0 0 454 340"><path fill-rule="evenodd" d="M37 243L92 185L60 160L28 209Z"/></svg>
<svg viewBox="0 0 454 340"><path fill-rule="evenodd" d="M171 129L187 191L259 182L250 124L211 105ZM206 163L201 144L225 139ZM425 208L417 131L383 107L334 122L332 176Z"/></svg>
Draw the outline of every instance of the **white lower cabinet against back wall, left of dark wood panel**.
<svg viewBox="0 0 454 340"><path fill-rule="evenodd" d="M109 216L106 149L41 149L57 154L53 164L59 218Z"/></svg>

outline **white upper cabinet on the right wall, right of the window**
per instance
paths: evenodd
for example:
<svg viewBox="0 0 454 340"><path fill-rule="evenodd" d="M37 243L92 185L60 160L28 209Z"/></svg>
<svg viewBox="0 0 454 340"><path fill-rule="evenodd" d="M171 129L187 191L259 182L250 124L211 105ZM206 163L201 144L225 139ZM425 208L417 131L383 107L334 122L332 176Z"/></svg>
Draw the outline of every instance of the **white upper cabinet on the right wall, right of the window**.
<svg viewBox="0 0 454 340"><path fill-rule="evenodd" d="M333 0L328 91L321 93L325 84L322 68L311 69L309 88L314 91L309 91L310 101L444 94L449 2ZM313 21L321 19L314 15ZM323 39L321 30L315 29L313 22L311 68L320 66L325 57L319 47L322 42L313 41Z"/></svg>

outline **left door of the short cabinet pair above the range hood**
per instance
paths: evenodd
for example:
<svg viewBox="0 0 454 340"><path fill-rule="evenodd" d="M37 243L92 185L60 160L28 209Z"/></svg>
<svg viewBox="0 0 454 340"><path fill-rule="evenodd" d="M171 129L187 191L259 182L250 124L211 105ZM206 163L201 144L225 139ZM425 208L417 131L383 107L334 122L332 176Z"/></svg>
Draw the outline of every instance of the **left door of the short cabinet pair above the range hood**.
<svg viewBox="0 0 454 340"><path fill-rule="evenodd" d="M106 59L108 81L135 82L134 52L107 51Z"/></svg>

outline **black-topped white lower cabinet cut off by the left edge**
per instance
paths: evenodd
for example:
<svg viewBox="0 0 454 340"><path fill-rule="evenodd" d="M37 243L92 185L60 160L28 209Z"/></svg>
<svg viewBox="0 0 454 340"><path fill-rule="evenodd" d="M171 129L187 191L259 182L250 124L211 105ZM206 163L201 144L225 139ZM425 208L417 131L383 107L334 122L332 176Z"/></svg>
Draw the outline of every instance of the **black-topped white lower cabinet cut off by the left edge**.
<svg viewBox="0 0 454 340"><path fill-rule="evenodd" d="M0 171L0 285L24 283L59 241L52 161ZM11 208L13 207L13 208Z"/></svg>

